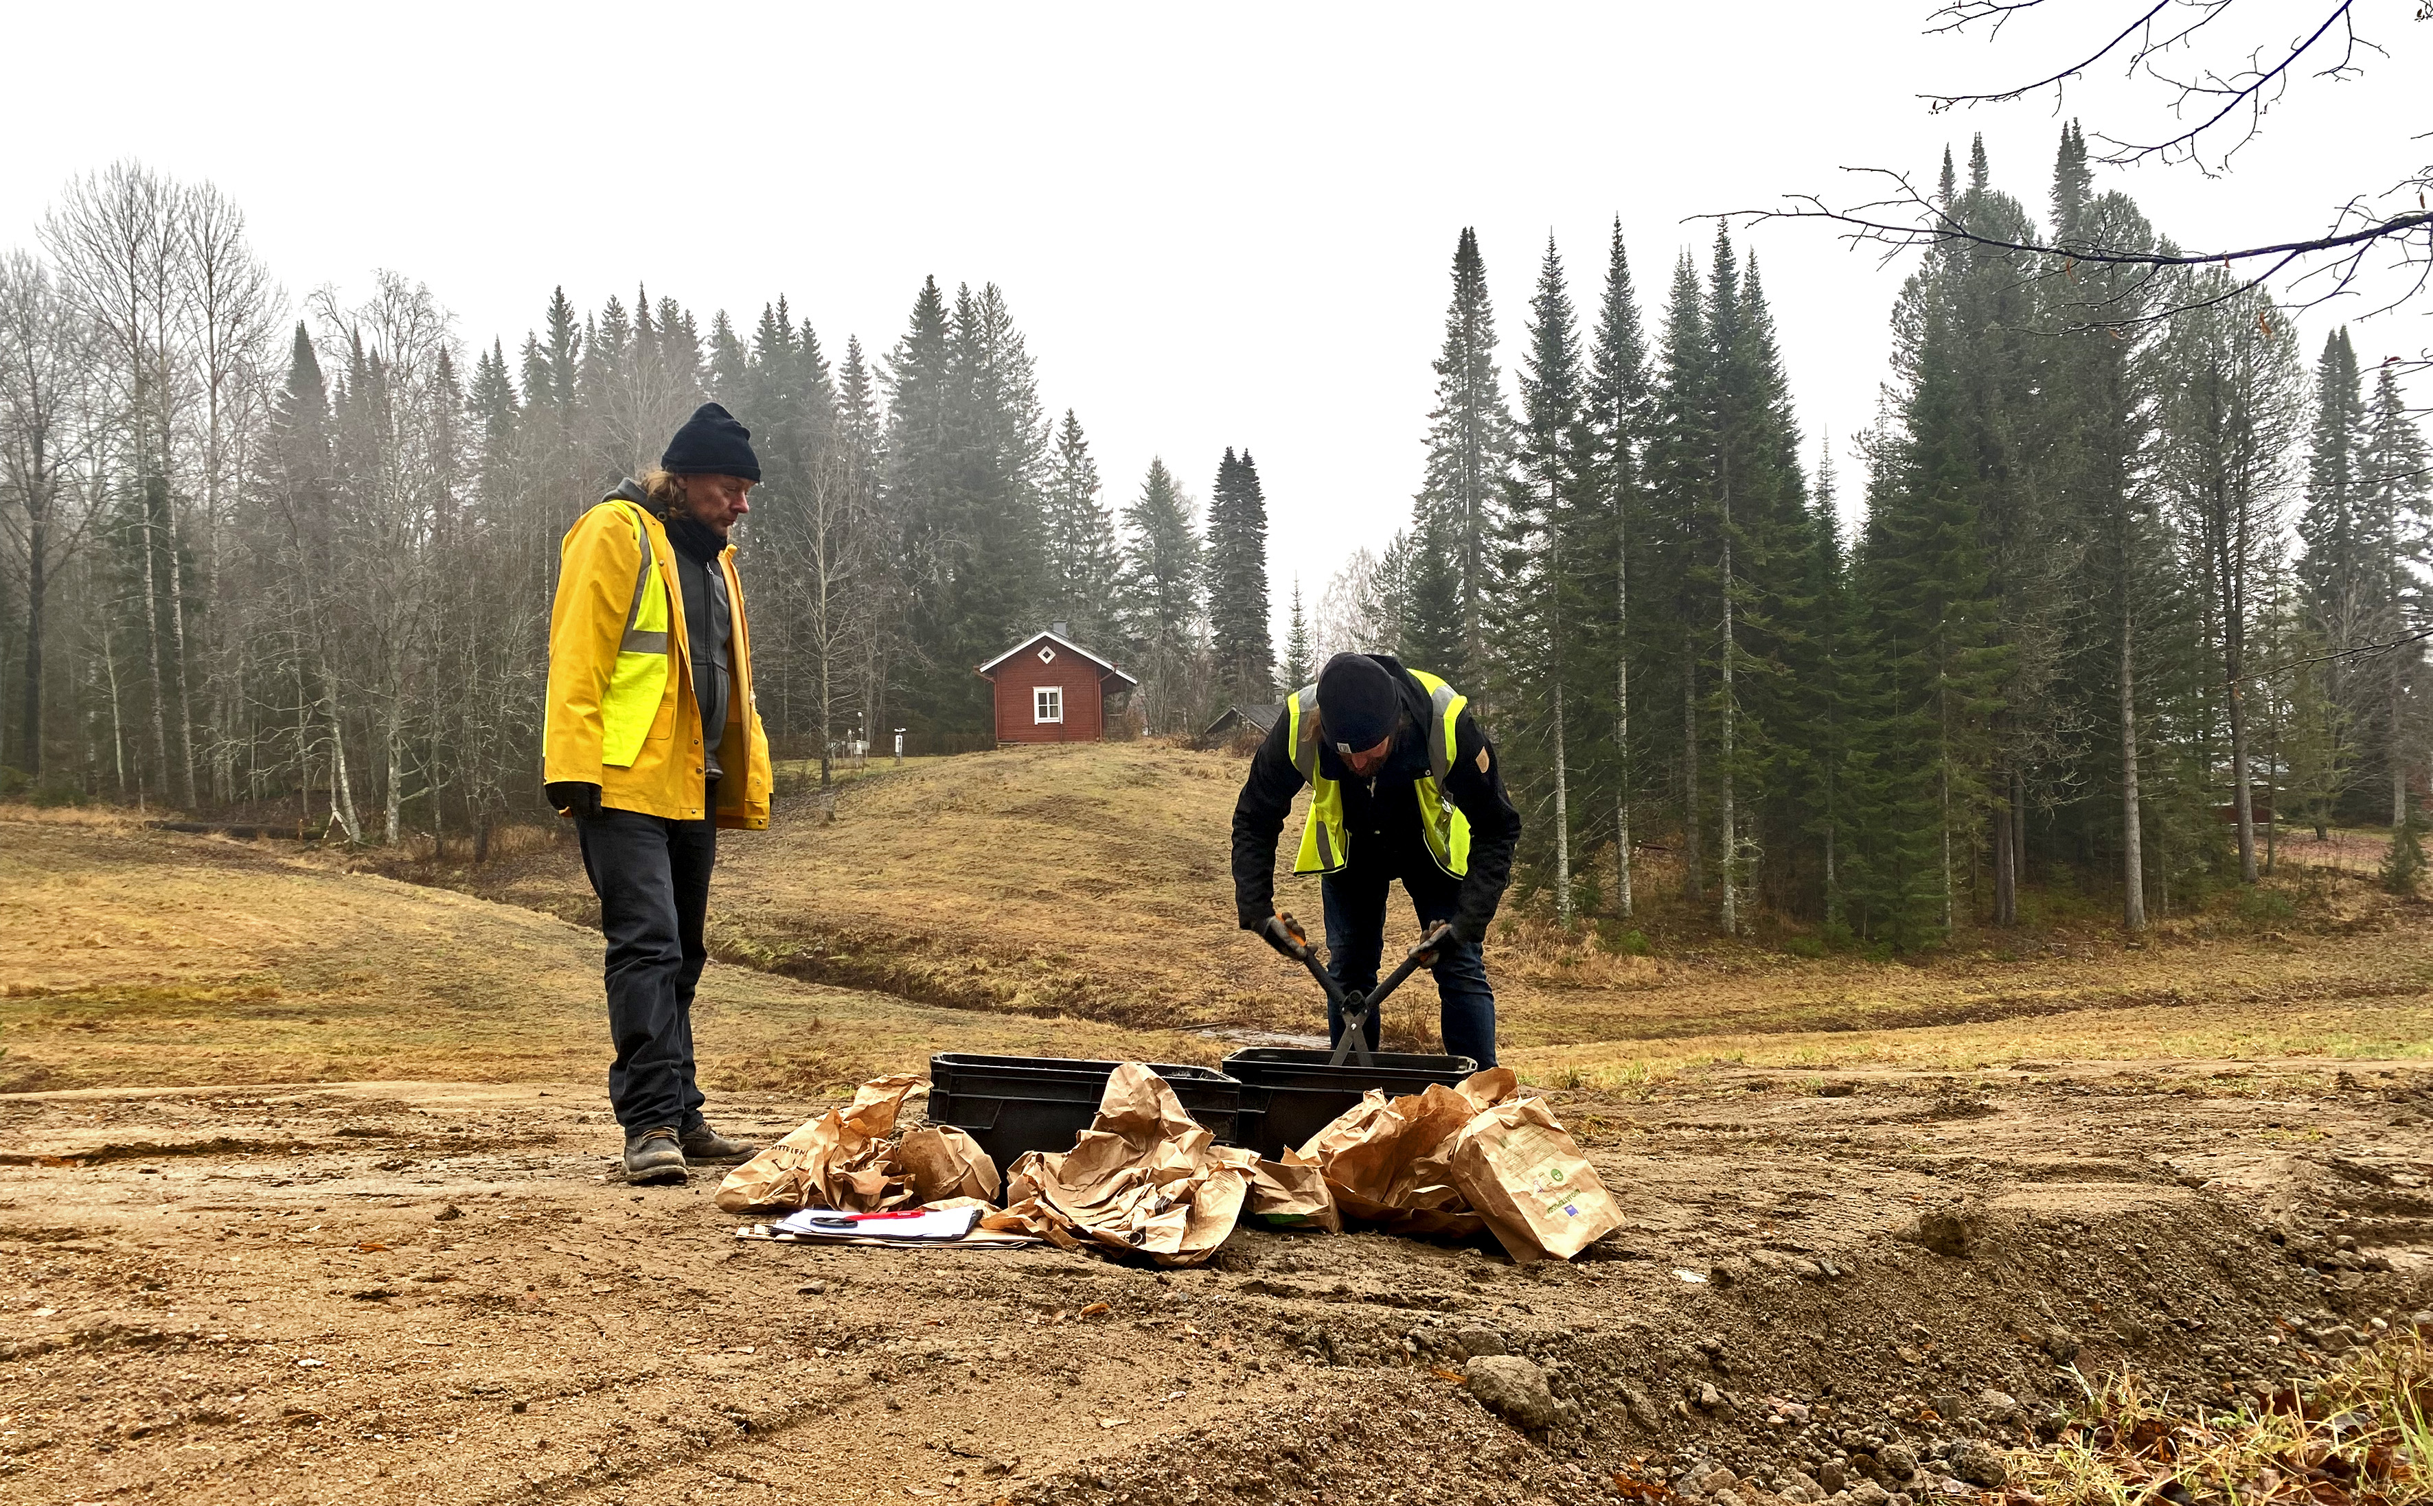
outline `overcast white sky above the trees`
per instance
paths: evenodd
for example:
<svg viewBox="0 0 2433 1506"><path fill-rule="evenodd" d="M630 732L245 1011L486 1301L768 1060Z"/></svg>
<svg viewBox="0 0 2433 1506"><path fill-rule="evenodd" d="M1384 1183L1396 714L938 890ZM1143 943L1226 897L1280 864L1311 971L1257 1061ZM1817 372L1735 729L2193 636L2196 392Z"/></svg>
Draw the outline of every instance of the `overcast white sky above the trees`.
<svg viewBox="0 0 2433 1506"><path fill-rule="evenodd" d="M2392 56L2299 85L2236 175L2102 185L2187 246L2314 234L2428 156L2414 7L2362 0ZM596 307L647 282L703 321L783 292L837 355L847 333L893 345L927 272L993 280L1114 504L1151 455L1204 499L1219 453L1251 448L1282 616L1294 572L1314 601L1409 513L1465 224L1508 372L1547 234L1586 314L1620 214L1654 324L1674 255L1713 238L1684 217L1847 195L1844 163L1932 178L1983 129L1995 182L2041 212L2049 102L1929 117L1915 95L2034 78L2139 5L2051 0L1997 46L1920 36L1927 10L24 7L0 22L0 246L32 243L66 178L134 156L234 195L292 294L397 268L508 350L555 285ZM2324 10L2233 17L2277 44ZM2073 107L2126 124L2095 92ZM1817 226L1752 246L1810 453L1839 445L1873 416L1903 268ZM2309 355L2331 319L2304 324ZM2372 363L2433 328L2418 307L2358 343Z"/></svg>

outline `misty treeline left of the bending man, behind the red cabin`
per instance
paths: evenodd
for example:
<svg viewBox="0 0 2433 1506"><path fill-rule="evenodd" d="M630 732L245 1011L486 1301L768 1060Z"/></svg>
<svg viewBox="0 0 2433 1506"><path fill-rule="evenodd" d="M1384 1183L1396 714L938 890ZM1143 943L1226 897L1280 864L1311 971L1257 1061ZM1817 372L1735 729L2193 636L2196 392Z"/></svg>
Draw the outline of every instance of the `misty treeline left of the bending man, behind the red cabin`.
<svg viewBox="0 0 2433 1506"><path fill-rule="evenodd" d="M876 360L783 297L703 328L560 290L470 360L397 272L294 314L236 204L134 163L0 260L0 766L36 796L370 842L543 813L557 543L706 399L762 457L737 538L781 754L983 747L973 667L1051 620L1153 730L1275 698L1251 453L1204 516L1163 460L1109 504L993 285L927 280Z"/></svg>

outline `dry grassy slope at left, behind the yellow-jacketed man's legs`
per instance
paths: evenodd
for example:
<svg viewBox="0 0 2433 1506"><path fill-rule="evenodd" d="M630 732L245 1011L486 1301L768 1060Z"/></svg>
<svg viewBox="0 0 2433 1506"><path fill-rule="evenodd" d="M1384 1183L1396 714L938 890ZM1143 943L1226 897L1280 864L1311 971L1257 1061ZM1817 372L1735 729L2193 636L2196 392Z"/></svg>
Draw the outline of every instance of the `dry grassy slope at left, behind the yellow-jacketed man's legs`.
<svg viewBox="0 0 2433 1506"><path fill-rule="evenodd" d="M939 1049L1163 1056L1165 1036L713 966L710 1090L822 1090ZM608 1071L601 942L272 844L0 810L0 1092L540 1080Z"/></svg>

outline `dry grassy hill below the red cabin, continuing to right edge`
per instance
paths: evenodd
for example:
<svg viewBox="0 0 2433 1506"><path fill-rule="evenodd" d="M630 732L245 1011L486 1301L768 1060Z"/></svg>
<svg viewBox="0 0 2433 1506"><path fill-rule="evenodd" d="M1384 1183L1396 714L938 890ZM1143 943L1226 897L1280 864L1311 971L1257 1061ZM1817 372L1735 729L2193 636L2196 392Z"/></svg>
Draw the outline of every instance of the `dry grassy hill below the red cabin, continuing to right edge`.
<svg viewBox="0 0 2433 1506"><path fill-rule="evenodd" d="M873 769L779 803L762 835L720 847L710 937L781 976L886 990L954 1010L1126 1029L1321 1029L1294 968L1234 927L1226 832L1238 757L1161 744L1002 749ZM1294 827L1287 827L1287 844ZM1954 1063L2119 1056L2404 1053L2433 1027L2426 907L2370 886L2370 866L2306 864L2268 903L2224 898L2141 944L2090 903L2032 895L2049 917L1907 961L1800 959L1718 942L1667 910L1654 956L1594 927L1506 915L1489 946L1501 1034L1545 1078L1620 1080L1713 1056L1752 1063ZM584 917L572 847L426 881ZM1309 881L1282 903L1316 920ZM1397 903L1389 937L1416 934ZM1608 937L1616 927L1606 927ZM1394 1039L1433 1039L1426 980L1389 1005ZM1226 1041L1182 1036L1182 1058Z"/></svg>

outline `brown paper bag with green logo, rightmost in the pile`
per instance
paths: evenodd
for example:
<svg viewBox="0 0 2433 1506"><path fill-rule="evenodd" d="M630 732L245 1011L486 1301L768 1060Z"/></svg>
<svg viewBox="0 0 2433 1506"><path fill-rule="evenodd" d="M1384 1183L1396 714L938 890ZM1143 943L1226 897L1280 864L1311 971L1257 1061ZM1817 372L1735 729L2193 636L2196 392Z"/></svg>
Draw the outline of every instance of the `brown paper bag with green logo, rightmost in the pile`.
<svg viewBox="0 0 2433 1506"><path fill-rule="evenodd" d="M1545 1100L1479 1112L1453 1143L1453 1185L1513 1260L1569 1260L1623 1226L1623 1209Z"/></svg>

